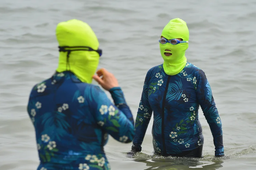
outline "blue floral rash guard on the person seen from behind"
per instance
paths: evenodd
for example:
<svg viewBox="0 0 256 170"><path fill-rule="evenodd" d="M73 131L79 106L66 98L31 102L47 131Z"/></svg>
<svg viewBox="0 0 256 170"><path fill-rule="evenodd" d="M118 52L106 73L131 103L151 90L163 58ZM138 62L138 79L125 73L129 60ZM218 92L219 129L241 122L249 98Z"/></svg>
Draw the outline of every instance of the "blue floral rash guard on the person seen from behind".
<svg viewBox="0 0 256 170"><path fill-rule="evenodd" d="M108 134L119 142L134 137L134 121L122 90L110 90L114 104L93 84L73 73L56 73L35 85L27 111L35 128L37 170L109 170L103 146Z"/></svg>

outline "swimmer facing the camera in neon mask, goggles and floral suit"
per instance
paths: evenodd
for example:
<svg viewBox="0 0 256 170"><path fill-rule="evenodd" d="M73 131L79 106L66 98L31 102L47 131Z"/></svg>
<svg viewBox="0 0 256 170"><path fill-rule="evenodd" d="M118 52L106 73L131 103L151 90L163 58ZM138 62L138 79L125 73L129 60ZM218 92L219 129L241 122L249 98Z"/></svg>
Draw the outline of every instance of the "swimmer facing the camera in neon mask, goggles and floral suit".
<svg viewBox="0 0 256 170"><path fill-rule="evenodd" d="M140 152L153 114L154 152L163 156L201 157L201 106L215 145L215 156L224 156L222 123L204 72L187 62L189 31L180 18L170 20L159 40L163 64L148 70L135 121L132 152Z"/></svg>

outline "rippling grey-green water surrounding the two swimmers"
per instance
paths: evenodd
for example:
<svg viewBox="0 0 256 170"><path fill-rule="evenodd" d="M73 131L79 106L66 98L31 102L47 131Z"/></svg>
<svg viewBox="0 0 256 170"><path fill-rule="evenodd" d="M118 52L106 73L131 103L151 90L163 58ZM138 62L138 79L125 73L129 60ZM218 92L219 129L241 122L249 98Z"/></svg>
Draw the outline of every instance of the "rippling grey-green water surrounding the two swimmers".
<svg viewBox="0 0 256 170"><path fill-rule="evenodd" d="M126 155L131 143L109 140L105 151L112 169L255 170L255 9L255 0L0 0L0 170L33 170L39 164L26 105L31 87L57 67L58 22L76 18L93 28L103 49L99 68L116 75L136 118L145 74L163 62L161 30L176 17L190 31L188 61L210 81L227 158L214 158L211 131L200 110L204 158L154 156L151 120L142 153L133 158Z"/></svg>

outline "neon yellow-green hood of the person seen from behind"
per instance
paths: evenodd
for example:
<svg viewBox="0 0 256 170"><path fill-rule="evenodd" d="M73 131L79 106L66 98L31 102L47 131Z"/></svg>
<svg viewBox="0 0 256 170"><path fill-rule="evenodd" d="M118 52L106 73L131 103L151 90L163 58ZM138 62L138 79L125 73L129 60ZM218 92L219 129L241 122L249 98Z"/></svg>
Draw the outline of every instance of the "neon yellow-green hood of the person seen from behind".
<svg viewBox="0 0 256 170"><path fill-rule="evenodd" d="M56 28L56 38L60 47L84 46L94 50L99 48L98 38L91 27L77 19L60 22ZM68 51L60 51L56 71L71 71L81 81L91 83L99 64L99 57L96 51L71 50L69 55Z"/></svg>

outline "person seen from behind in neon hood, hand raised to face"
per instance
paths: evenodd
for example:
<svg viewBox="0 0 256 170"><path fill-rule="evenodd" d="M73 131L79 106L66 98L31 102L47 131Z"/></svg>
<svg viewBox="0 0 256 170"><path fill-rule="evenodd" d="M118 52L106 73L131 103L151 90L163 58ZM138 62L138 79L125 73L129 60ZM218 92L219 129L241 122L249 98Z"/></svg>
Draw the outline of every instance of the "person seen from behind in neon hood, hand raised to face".
<svg viewBox="0 0 256 170"><path fill-rule="evenodd" d="M91 28L73 19L60 22L56 36L56 73L32 88L27 107L40 158L37 170L109 170L103 146L108 134L119 142L132 141L131 111L111 73L100 69L94 75L102 51ZM92 77L111 93L114 104L91 84Z"/></svg>

